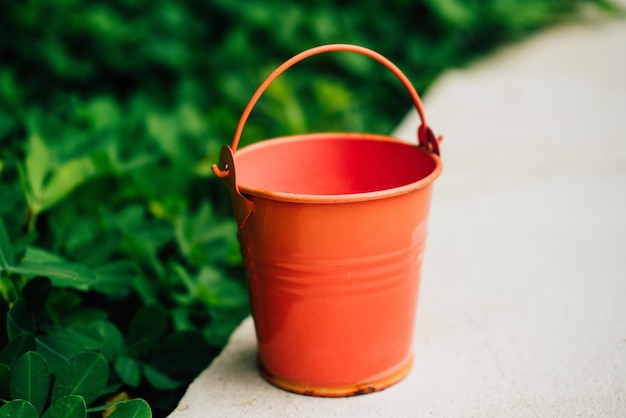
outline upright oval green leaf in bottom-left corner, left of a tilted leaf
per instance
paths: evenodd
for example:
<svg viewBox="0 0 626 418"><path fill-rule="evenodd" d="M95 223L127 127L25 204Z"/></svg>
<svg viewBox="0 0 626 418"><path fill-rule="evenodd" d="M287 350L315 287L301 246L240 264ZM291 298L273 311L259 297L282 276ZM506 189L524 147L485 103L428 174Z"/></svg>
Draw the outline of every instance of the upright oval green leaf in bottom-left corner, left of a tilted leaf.
<svg viewBox="0 0 626 418"><path fill-rule="evenodd" d="M41 414L50 391L50 370L43 356L29 351L11 371L11 397L25 399Z"/></svg>

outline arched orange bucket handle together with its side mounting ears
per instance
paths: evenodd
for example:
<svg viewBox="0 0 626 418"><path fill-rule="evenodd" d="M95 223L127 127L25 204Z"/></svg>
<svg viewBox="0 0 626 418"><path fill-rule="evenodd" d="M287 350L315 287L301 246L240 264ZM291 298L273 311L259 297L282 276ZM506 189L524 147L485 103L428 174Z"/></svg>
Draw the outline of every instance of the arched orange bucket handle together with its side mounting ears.
<svg viewBox="0 0 626 418"><path fill-rule="evenodd" d="M248 117L252 113L252 109L261 98L261 95L263 95L265 90L267 90L267 88L270 86L270 84L272 84L272 82L274 82L274 80L276 80L276 78L278 78L278 76L280 76L288 68L311 56L332 51L356 52L358 54L365 55L366 57L378 61L388 70L390 70L404 85L404 88L409 93L409 96L411 96L413 104L415 105L417 113L419 114L420 120L422 122L422 124L417 129L417 139L419 142L419 146L428 150L429 152L439 155L439 141L441 140L441 138L435 137L432 130L426 124L424 107L422 106L422 101L420 100L419 95L415 90L415 87L413 87L413 84L411 84L408 77L404 75L404 73L400 71L400 69L393 62L391 62L381 54L372 51L371 49L358 45L328 44L307 49L293 56L292 58L281 64L279 67L277 67L257 88L256 92L250 98L250 101L246 105L243 113L241 114L241 117L239 118L232 144L230 146L224 145L224 147L222 147L219 166L217 164L213 164L213 166L211 167L213 173L217 177L222 178L226 182L226 184L236 193L236 195L233 195L233 198L238 199L239 204L234 204L233 206L235 208L235 217L237 218L240 227L243 227L243 224L245 224L245 222L250 217L253 210L253 204L250 199L246 198L239 192L239 188L237 187L237 182L235 179L234 154L237 150L237 147L239 146L241 134L243 133L243 129L248 120Z"/></svg>

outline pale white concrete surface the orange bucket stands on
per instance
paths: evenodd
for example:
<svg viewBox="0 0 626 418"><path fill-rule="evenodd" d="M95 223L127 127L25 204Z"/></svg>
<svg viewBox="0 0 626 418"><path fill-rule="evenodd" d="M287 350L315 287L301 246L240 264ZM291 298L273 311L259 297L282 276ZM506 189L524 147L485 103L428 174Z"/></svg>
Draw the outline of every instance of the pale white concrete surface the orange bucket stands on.
<svg viewBox="0 0 626 418"><path fill-rule="evenodd" d="M444 75L425 108L444 174L410 375L281 391L248 319L171 417L626 416L626 22L548 30Z"/></svg>

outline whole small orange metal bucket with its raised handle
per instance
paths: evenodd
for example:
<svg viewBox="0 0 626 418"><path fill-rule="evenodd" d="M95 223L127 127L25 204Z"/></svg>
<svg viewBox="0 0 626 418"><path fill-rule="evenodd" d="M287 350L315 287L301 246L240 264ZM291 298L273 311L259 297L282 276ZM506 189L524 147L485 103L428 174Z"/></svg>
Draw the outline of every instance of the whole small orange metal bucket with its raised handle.
<svg viewBox="0 0 626 418"><path fill-rule="evenodd" d="M400 79L422 120L418 145L316 133L235 153L272 81L328 51L366 55ZM406 76L359 46L304 51L261 84L213 171L231 191L261 375L288 391L332 397L378 391L405 377L432 184L441 173L438 140Z"/></svg>

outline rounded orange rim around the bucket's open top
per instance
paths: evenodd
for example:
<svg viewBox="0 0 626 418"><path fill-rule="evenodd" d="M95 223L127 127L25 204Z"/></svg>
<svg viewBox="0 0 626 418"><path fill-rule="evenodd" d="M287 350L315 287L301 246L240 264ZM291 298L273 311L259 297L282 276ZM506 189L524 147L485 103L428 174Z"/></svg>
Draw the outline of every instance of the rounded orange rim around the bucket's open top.
<svg viewBox="0 0 626 418"><path fill-rule="evenodd" d="M291 203L319 203L319 204L332 204L332 203L352 203L363 202L370 200L386 199L390 197L400 196L408 193L415 192L420 189L424 189L430 186L441 174L443 169L440 156L422 146L412 144L408 141L401 140L388 135L369 134L359 132L318 132L307 133L298 135L280 136L272 139L267 139L254 144L247 145L238 149L235 152L235 163L238 157L250 152L254 152L261 148L267 148L276 145L277 143L289 143L302 140L329 140L329 139L343 139L352 141L379 141L379 142L393 142L397 144L406 145L418 149L427 157L434 160L435 167L430 174L421 178L418 181L405 184L398 187L393 187L384 190L376 190L372 192L363 193L348 193L348 194L303 194L303 193L287 193L278 192L273 190L267 190L260 187L253 187L243 184L239 181L236 182L239 192L244 196L253 196L265 198L268 200L276 200Z"/></svg>

